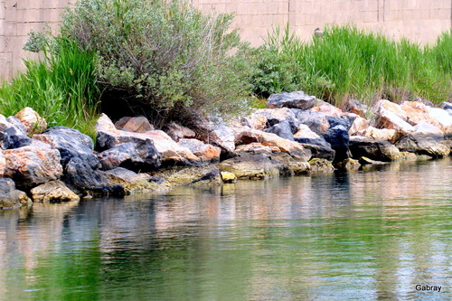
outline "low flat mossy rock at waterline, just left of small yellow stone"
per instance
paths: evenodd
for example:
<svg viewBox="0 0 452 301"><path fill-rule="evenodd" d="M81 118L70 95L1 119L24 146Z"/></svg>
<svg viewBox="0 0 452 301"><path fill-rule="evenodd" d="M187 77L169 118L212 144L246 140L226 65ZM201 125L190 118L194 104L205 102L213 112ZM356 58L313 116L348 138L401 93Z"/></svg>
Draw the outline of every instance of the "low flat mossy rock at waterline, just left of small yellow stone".
<svg viewBox="0 0 452 301"><path fill-rule="evenodd" d="M175 172L165 171L165 179L175 185L211 185L221 184L221 173L214 165L188 167Z"/></svg>

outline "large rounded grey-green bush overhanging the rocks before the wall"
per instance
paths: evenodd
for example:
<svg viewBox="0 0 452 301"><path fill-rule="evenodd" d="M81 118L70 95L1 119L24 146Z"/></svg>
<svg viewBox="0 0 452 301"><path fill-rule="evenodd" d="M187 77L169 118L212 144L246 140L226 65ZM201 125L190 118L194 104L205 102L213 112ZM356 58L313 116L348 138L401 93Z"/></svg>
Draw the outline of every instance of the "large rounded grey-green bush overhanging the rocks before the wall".
<svg viewBox="0 0 452 301"><path fill-rule="evenodd" d="M185 0L80 0L63 16L62 34L97 52L108 95L120 95L158 126L246 105L250 52L229 30L231 20Z"/></svg>

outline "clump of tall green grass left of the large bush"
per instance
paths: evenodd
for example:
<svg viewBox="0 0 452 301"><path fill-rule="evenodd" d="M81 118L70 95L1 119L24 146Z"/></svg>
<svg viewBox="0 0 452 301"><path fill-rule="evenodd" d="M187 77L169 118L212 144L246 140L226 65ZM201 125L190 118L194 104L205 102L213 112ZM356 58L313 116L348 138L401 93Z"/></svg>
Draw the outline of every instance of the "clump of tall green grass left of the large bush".
<svg viewBox="0 0 452 301"><path fill-rule="evenodd" d="M96 56L80 51L77 44L55 38L44 59L25 61L26 70L0 89L0 113L11 116L31 107L49 127L66 126L95 136L99 88Z"/></svg>

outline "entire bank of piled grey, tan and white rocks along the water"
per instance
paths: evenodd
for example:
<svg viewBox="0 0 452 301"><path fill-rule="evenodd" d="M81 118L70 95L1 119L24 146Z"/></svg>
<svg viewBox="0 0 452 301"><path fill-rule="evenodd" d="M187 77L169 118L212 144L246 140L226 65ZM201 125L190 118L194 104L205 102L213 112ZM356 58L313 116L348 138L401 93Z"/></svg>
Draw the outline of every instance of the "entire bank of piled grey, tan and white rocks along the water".
<svg viewBox="0 0 452 301"><path fill-rule="evenodd" d="M32 108L0 115L0 209L446 157L452 104L351 100L340 109L296 91L196 130L102 114L96 132L95 146L78 130L47 128Z"/></svg>

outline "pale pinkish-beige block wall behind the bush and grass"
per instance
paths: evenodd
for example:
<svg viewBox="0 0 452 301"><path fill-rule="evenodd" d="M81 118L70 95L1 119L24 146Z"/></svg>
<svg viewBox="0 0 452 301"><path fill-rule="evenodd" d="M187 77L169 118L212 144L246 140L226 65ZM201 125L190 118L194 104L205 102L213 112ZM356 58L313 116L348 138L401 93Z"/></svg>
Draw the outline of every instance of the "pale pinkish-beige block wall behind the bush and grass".
<svg viewBox="0 0 452 301"><path fill-rule="evenodd" d="M70 0L0 0L0 79L10 79L33 57L22 47L30 30L53 28ZM272 25L290 24L310 39L316 27L352 23L360 28L417 42L433 42L451 28L451 0L193 0L203 11L235 13L233 26L253 45Z"/></svg>

